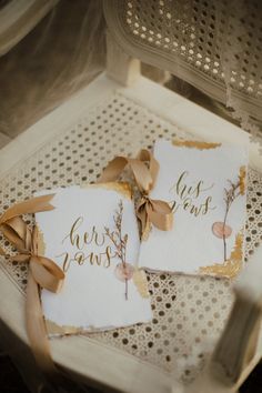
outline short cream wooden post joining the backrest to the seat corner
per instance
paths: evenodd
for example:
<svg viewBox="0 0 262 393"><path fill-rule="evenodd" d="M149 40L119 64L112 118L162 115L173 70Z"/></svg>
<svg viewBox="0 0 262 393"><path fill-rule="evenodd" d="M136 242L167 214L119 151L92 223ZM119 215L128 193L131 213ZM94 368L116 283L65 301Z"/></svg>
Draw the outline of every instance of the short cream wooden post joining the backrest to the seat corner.
<svg viewBox="0 0 262 393"><path fill-rule="evenodd" d="M127 54L107 31L107 74L123 85L140 77L140 61Z"/></svg>

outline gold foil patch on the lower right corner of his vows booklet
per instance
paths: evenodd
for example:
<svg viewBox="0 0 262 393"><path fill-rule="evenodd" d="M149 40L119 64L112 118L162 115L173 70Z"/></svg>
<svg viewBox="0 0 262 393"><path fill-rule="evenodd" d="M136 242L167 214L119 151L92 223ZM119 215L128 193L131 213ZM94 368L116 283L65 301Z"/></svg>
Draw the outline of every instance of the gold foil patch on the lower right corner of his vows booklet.
<svg viewBox="0 0 262 393"><path fill-rule="evenodd" d="M200 273L214 276L234 278L243 265L243 233L239 232L235 236L234 248L230 258L223 263L215 263L210 266L200 268Z"/></svg>

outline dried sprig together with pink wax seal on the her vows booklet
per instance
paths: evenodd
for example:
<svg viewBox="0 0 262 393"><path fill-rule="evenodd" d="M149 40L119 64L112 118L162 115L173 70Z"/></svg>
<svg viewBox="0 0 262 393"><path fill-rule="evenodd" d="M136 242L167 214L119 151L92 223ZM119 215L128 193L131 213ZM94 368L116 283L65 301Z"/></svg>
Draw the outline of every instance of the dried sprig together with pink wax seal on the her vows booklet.
<svg viewBox="0 0 262 393"><path fill-rule="evenodd" d="M115 254L120 259L121 263L117 265L115 275L120 281L124 281L125 283L125 292L124 296L128 300L128 280L130 280L133 275L133 266L130 263L127 263L127 244L128 244L128 234L122 235L122 219L123 219L123 202L120 200L119 209L115 211L115 215L113 218L115 231L109 230L109 228L104 228L105 235L111 240L114 245Z"/></svg>

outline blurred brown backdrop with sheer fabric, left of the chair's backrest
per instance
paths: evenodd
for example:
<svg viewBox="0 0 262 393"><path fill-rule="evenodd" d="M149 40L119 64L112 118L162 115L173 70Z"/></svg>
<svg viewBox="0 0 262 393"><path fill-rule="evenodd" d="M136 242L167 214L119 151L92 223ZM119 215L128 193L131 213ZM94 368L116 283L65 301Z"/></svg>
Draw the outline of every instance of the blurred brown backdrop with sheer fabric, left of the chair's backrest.
<svg viewBox="0 0 262 393"><path fill-rule="evenodd" d="M0 10L7 2L0 0ZM37 18L37 26L21 41L18 37L18 44L0 57L0 145L104 69L105 24L101 1L62 0L57 6L56 2L50 1L48 14L40 21ZM33 23L34 16L28 16L24 23ZM17 29L19 36L20 27Z"/></svg>

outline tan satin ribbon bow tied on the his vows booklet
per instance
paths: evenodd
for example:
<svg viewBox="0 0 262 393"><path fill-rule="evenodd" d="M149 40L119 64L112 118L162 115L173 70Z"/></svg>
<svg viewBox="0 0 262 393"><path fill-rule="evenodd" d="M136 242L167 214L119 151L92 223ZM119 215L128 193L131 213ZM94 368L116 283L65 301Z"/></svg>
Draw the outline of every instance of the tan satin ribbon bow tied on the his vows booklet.
<svg viewBox="0 0 262 393"><path fill-rule="evenodd" d="M153 200L149 196L155 184L159 163L148 150L141 150L137 159L114 158L109 162L98 182L115 181L127 165L130 167L141 193L137 206L137 215L141 223L142 239L145 240L148 238L151 224L162 231L171 230L173 213L170 205L164 201Z"/></svg>

